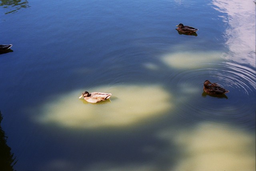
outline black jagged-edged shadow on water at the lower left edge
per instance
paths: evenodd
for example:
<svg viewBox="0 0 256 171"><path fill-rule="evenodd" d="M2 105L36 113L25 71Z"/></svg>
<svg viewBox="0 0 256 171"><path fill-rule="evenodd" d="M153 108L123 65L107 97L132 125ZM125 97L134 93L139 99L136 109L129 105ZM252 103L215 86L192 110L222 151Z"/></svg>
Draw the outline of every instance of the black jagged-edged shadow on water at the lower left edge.
<svg viewBox="0 0 256 171"><path fill-rule="evenodd" d="M3 117L0 111L0 169L2 171L13 171L13 166L17 163L16 157L11 152L11 148L7 145L7 136L1 127Z"/></svg>

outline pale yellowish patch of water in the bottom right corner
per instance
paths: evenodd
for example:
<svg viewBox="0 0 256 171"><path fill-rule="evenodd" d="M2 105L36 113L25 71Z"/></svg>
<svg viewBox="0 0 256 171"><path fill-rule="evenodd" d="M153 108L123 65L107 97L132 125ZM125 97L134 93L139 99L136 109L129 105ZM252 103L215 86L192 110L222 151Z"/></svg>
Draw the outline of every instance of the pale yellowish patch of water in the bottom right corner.
<svg viewBox="0 0 256 171"><path fill-rule="evenodd" d="M199 123L174 133L160 135L180 149L180 160L170 170L253 171L255 135L225 123Z"/></svg>

